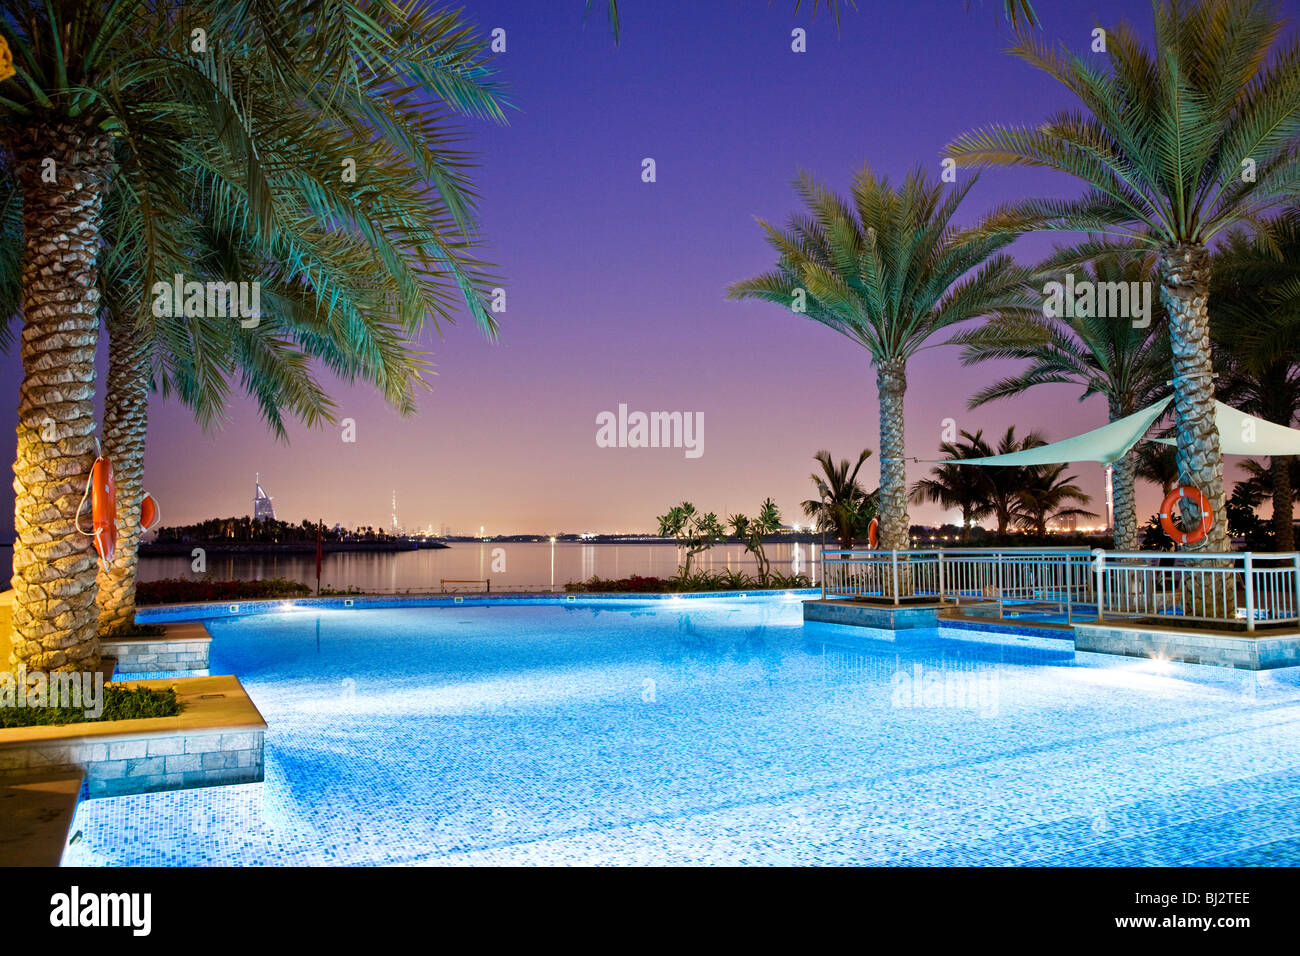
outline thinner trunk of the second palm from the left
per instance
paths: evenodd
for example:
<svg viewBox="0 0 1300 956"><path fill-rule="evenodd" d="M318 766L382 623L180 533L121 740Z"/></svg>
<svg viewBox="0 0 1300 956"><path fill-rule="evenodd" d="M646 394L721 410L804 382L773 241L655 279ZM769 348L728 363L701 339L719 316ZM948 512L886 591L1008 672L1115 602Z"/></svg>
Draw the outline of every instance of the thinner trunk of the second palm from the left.
<svg viewBox="0 0 1300 956"><path fill-rule="evenodd" d="M135 620L135 571L144 497L144 434L148 423L148 338L130 319L108 321L104 393L104 454L117 480L117 551L99 572L99 628Z"/></svg>

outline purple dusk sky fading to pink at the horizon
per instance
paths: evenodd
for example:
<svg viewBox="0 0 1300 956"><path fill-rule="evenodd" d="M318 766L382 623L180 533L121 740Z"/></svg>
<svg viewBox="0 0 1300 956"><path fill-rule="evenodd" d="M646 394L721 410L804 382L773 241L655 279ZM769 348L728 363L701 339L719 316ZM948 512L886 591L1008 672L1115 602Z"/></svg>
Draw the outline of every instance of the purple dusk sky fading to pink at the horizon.
<svg viewBox="0 0 1300 956"><path fill-rule="evenodd" d="M277 444L247 402L204 434L156 399L146 486L164 520L250 512L255 472L281 518L347 525L387 524L394 489L403 524L454 532L647 529L684 498L753 512L771 496L786 520L801 519L814 451L878 450L875 375L829 329L724 299L728 284L774 261L754 216L784 221L798 208L789 183L801 168L838 190L863 163L892 178L918 163L937 170L942 146L967 129L1037 122L1072 104L1002 52L997 0L968 13L962 0L872 0L846 12L838 35L824 14L812 22L790 7L625 0L615 47L603 17L584 26L581 0L468 4L484 31L507 30L498 61L519 107L504 127L467 122L481 155L486 255L506 277L500 342L485 343L468 321L430 341L438 376L413 418L364 388L334 388L356 444L296 427ZM1140 0L1036 7L1044 33L1076 49L1098 21L1127 16L1144 31L1149 22ZM790 51L794 26L809 30L806 53ZM644 157L655 159L658 182L641 181ZM1049 173L992 170L963 219L1015 196L1076 191ZM1031 237L1014 251L1030 260L1050 245ZM909 368L909 455L937 457L945 418L1052 440L1104 423L1100 399L1080 405L1063 386L967 411L967 397L1008 368L963 369L956 349L922 352ZM0 458L12 460L17 355L0 369ZM598 447L595 416L620 402L702 412L703 455ZM924 468L909 464L909 480ZM1101 467L1072 471L1104 510ZM864 473L874 486L875 459ZM1140 492L1143 514L1157 502L1154 489ZM8 488L0 509L12 514ZM935 506L913 516L944 518Z"/></svg>

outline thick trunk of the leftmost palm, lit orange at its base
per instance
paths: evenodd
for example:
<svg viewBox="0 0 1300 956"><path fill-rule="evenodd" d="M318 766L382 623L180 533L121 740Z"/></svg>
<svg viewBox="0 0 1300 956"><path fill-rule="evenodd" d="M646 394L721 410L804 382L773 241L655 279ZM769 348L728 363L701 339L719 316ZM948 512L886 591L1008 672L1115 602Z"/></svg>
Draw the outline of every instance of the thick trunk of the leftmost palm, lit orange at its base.
<svg viewBox="0 0 1300 956"><path fill-rule="evenodd" d="M101 200L112 140L42 116L14 131L22 186L22 369L13 464L13 665L99 665L96 555L77 531L95 459ZM53 161L53 182L44 173Z"/></svg>

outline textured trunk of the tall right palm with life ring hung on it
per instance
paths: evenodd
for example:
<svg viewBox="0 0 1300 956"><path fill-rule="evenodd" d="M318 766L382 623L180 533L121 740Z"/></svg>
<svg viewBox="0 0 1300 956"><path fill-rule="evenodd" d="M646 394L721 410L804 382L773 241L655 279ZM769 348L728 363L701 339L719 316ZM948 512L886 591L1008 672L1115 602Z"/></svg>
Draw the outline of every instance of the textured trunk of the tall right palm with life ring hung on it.
<svg viewBox="0 0 1300 956"><path fill-rule="evenodd" d="M1214 524L1188 550L1227 551L1223 458L1214 424L1214 378L1209 336L1209 254L1200 245L1166 248L1160 256L1160 297L1169 313L1178 415L1178 475L1209 499Z"/></svg>

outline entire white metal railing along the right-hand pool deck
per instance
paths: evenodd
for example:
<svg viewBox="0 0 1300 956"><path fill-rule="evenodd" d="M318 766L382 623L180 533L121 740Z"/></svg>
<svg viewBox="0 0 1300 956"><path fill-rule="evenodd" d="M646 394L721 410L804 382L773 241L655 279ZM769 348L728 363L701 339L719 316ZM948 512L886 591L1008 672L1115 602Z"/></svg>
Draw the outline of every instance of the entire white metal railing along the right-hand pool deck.
<svg viewBox="0 0 1300 956"><path fill-rule="evenodd" d="M1054 604L1066 620L1087 605L1110 617L1300 623L1300 553L1106 551L954 548L826 550L822 597L901 604Z"/></svg>

